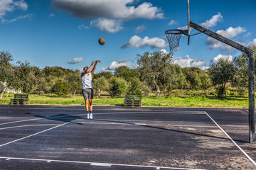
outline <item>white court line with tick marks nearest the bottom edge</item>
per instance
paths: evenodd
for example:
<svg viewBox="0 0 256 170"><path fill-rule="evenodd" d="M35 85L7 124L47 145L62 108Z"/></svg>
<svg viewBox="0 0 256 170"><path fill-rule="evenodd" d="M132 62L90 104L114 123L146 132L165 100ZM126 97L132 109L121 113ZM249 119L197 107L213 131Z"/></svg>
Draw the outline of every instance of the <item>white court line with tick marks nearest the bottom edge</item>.
<svg viewBox="0 0 256 170"><path fill-rule="evenodd" d="M155 169L183 169L183 170L201 170L201 169L186 169L186 168L176 168L168 166L147 166L147 165L134 165L134 164L110 164L110 163L99 163L99 162L78 162L78 161L62 161L53 159L31 159L31 158L17 158L17 157L0 157L0 159L16 159L16 160L27 160L27 161L38 161L38 162L63 162L63 163L73 163L73 164L90 164L92 166L130 166L130 167L144 167L144 168L155 168Z"/></svg>

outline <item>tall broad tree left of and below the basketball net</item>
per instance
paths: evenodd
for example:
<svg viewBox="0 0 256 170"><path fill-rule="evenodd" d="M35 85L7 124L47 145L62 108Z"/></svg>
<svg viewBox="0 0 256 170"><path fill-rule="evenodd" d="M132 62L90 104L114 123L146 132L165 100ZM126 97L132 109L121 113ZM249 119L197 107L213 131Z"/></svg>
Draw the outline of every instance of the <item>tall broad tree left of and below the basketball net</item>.
<svg viewBox="0 0 256 170"><path fill-rule="evenodd" d="M173 81L175 74L172 64L172 55L170 53L144 52L143 55L137 55L137 69L141 74L142 81L146 81L156 90L156 96L159 97L160 90L164 89L166 84Z"/></svg>

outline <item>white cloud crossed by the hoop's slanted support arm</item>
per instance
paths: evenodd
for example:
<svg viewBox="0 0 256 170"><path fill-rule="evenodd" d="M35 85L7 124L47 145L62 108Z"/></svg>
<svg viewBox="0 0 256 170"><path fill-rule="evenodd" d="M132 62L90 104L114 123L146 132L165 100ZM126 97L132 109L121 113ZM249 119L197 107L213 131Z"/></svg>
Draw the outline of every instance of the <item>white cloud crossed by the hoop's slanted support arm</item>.
<svg viewBox="0 0 256 170"><path fill-rule="evenodd" d="M245 33L245 29L241 28L240 26L237 28L230 27L226 30L218 30L216 33L223 35L225 38L235 38L238 36L240 33ZM242 44L242 43L240 43ZM233 47L230 47L229 45L223 44L223 42L220 42L219 40L215 40L213 38L208 37L206 39L206 45L210 45L210 49L215 49L220 47L221 50L223 51L230 51L233 50Z"/></svg>

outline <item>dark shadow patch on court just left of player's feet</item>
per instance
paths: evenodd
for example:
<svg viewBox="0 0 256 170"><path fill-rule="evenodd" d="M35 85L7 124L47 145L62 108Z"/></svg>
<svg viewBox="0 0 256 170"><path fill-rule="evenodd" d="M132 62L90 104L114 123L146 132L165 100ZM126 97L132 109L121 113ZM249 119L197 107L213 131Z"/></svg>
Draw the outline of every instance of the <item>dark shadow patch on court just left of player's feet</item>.
<svg viewBox="0 0 256 170"><path fill-rule="evenodd" d="M34 115L36 118L44 118L48 120L56 120L56 121L61 121L65 123L75 123L73 120L81 119L82 117L77 116L77 115L66 115L66 114L58 114L58 115L53 115L53 116L43 116L43 115ZM78 125L82 125L82 123L75 123Z"/></svg>

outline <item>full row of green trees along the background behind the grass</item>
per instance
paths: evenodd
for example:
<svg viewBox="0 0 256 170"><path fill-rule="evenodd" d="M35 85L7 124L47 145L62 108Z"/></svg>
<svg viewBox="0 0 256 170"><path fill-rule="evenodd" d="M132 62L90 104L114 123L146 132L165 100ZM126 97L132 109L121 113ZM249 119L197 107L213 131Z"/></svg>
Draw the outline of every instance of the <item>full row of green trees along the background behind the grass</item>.
<svg viewBox="0 0 256 170"><path fill-rule="evenodd" d="M256 52L256 47L250 49ZM27 94L58 94L75 96L81 93L80 71L63 67L40 69L26 62L12 64L10 52L0 52L0 91L3 97L6 89L20 90ZM95 95L111 96L126 94L148 96L154 92L169 95L173 89L201 90L208 95L214 88L216 95L225 96L227 84L233 86L239 95L247 94L248 59L245 53L233 61L220 59L208 70L197 67L182 68L174 64L171 53L161 51L144 52L136 57L136 69L118 67L114 72L93 74Z"/></svg>

